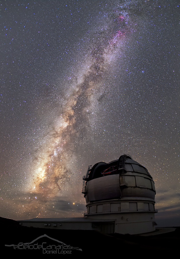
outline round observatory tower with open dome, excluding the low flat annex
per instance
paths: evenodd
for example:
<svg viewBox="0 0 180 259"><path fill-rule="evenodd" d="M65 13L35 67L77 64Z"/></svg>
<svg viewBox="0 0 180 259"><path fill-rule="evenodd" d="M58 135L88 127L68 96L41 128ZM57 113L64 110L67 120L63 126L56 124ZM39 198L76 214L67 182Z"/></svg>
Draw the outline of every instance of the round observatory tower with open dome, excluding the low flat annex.
<svg viewBox="0 0 180 259"><path fill-rule="evenodd" d="M109 163L99 162L89 166L83 180L82 193L87 207L85 216L116 219L116 227L121 228L121 231L116 231L118 233L134 234L129 230L126 232L127 225L124 228L124 223L127 221L129 228L137 226L139 233L155 230L154 182L148 170L132 157L122 155Z"/></svg>

